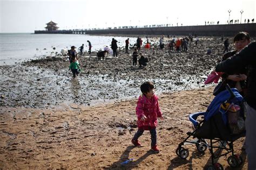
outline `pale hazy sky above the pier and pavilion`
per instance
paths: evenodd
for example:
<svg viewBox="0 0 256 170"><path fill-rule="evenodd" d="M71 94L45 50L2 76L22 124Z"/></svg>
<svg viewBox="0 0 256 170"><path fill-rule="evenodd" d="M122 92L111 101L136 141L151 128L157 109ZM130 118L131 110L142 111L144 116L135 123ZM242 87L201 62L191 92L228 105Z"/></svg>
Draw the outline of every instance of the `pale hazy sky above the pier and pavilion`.
<svg viewBox="0 0 256 170"><path fill-rule="evenodd" d="M170 24L205 25L256 19L255 0L0 0L0 33ZM228 11L231 10L229 13Z"/></svg>

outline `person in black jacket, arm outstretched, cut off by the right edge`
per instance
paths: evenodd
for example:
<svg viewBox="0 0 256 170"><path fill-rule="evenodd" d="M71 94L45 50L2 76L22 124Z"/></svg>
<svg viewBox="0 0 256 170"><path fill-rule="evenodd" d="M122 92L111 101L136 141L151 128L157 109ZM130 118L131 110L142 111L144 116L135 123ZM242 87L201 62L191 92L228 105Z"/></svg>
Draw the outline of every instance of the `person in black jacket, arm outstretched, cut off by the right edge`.
<svg viewBox="0 0 256 170"><path fill-rule="evenodd" d="M251 42L238 54L230 59L220 62L216 72L235 72L238 69L247 67L247 94L245 97L245 147L248 160L248 169L256 169L256 42Z"/></svg>

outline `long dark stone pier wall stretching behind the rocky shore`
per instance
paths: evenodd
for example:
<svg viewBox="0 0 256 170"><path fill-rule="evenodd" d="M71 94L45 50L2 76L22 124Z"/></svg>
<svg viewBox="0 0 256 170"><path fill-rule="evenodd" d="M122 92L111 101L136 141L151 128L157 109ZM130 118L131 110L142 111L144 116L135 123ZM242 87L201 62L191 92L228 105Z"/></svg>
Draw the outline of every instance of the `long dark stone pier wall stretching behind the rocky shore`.
<svg viewBox="0 0 256 170"><path fill-rule="evenodd" d="M198 25L198 26L165 26L165 27L130 27L118 29L93 29L93 30L58 30L58 31L35 31L38 33L57 34L133 34L133 35L188 35L198 36L234 36L240 31L256 36L256 23L249 24L224 24L224 25Z"/></svg>

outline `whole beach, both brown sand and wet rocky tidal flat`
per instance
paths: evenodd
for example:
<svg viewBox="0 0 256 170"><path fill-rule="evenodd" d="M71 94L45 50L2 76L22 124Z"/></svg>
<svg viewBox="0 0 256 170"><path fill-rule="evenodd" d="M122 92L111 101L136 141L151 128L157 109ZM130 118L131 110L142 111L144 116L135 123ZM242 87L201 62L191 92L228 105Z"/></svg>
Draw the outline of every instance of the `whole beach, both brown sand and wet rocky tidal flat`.
<svg viewBox="0 0 256 170"><path fill-rule="evenodd" d="M211 164L210 151L194 145L186 160L176 155L178 144L192 131L188 115L206 111L213 86L207 74L221 59L223 42L217 37L199 39L188 52L158 48L149 51L145 68L132 66L132 57L119 48L118 58L96 60L81 56L84 72L76 81L65 58L46 58L1 66L0 169L203 169ZM167 40L166 40L167 42ZM212 54L206 54L208 48ZM95 55L95 53L93 53ZM157 128L160 153L150 151L150 133L131 139L137 131L135 113L139 86L152 80L165 118ZM234 153L247 169L244 138L234 142ZM227 158L218 162L231 169ZM128 164L121 163L133 159Z"/></svg>

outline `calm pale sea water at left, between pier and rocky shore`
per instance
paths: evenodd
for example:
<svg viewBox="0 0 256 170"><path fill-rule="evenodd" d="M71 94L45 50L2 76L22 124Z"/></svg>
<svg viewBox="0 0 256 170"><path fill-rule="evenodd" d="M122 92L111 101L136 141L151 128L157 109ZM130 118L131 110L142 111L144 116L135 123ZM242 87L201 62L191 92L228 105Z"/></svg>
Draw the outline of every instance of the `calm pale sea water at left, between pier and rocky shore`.
<svg viewBox="0 0 256 170"><path fill-rule="evenodd" d="M70 49L72 45L78 48L84 44L84 50L87 51L87 40L91 41L92 51L98 51L105 46L110 47L112 38L85 34L0 33L0 65L13 65L15 62L53 56L56 52L60 53L62 48ZM127 37L114 38L117 39L119 47L125 45ZM135 43L136 38L130 38L130 42Z"/></svg>

